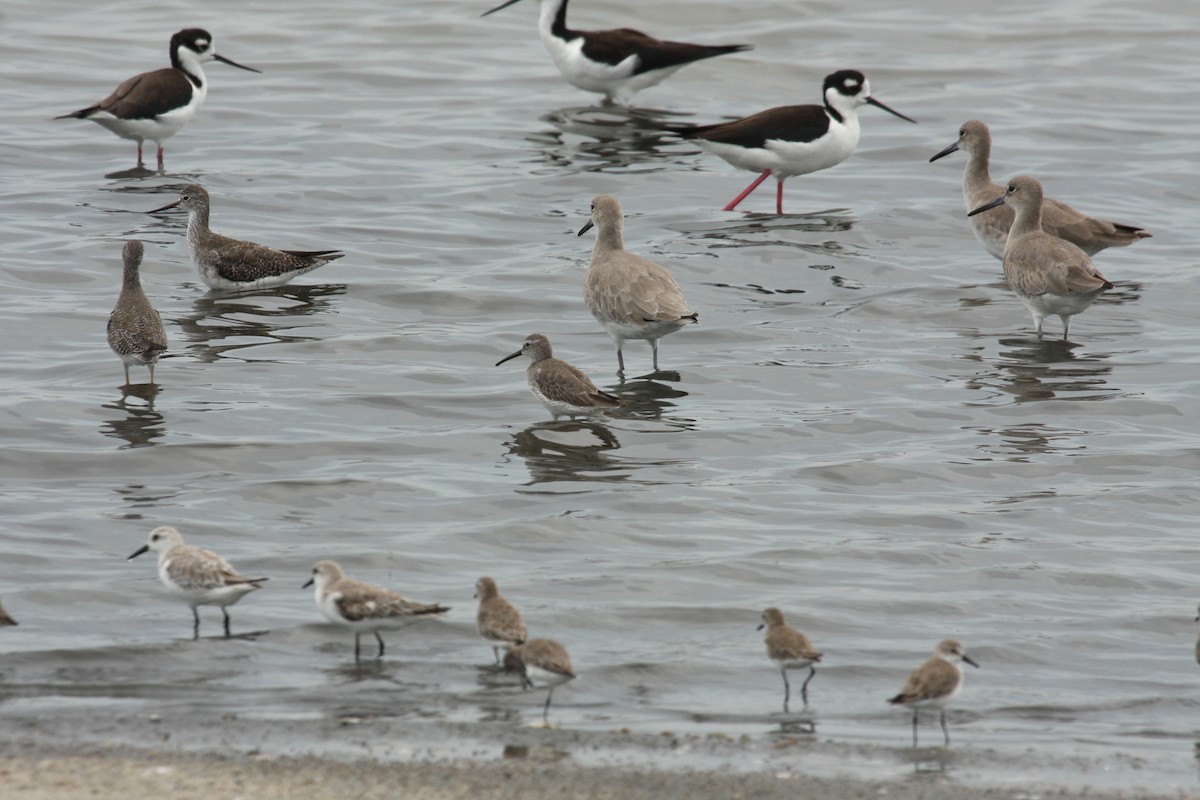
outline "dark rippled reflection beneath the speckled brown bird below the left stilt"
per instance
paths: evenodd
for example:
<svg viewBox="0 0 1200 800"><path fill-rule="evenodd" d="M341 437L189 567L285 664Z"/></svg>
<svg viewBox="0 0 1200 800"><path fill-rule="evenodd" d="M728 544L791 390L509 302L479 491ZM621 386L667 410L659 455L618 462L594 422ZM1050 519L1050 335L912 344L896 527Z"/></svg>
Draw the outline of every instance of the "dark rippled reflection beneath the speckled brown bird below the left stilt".
<svg viewBox="0 0 1200 800"><path fill-rule="evenodd" d="M346 294L346 284L283 285L247 294L206 294L196 300L192 313L178 317L188 353L211 363L232 350L271 342L313 342L317 336L289 333L307 326L304 317L330 311L329 297ZM244 341L252 339L252 341Z"/></svg>

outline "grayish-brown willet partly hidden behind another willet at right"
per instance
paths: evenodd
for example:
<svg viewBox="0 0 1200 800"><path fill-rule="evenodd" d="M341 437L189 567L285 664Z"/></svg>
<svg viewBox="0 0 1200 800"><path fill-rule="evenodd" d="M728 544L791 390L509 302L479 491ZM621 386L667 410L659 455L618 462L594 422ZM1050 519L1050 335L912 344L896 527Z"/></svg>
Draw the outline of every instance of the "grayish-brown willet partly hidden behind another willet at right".
<svg viewBox="0 0 1200 800"><path fill-rule="evenodd" d="M967 154L967 164L962 170L962 200L967 211L1003 194L1004 187L991 180L988 169L988 160L991 157L991 132L986 125L979 120L967 120L959 128L958 140L930 158L930 162L958 150ZM998 207L990 213L971 217L971 229L976 239L984 249L1000 260L1004 260L1004 243L1008 241L1008 230L1013 227L1014 216L1012 209ZM1105 247L1126 247L1150 237L1150 234L1141 228L1090 217L1052 198L1042 201L1042 229L1066 239L1088 255L1096 255Z"/></svg>

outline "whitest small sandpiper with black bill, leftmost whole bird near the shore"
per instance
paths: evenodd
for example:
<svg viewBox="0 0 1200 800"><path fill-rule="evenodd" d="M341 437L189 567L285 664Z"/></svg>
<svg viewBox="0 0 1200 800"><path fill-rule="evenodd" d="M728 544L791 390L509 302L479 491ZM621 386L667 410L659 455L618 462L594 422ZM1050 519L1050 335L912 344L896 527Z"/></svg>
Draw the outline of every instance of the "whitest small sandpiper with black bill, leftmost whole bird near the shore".
<svg viewBox="0 0 1200 800"><path fill-rule="evenodd" d="M211 551L190 547L184 536L169 525L150 531L150 541L130 554L134 559L148 551L158 554L158 579L182 597L192 609L192 639L200 638L198 606L220 606L224 616L224 634L229 638L228 606L259 589L266 578L238 575L229 563Z"/></svg>

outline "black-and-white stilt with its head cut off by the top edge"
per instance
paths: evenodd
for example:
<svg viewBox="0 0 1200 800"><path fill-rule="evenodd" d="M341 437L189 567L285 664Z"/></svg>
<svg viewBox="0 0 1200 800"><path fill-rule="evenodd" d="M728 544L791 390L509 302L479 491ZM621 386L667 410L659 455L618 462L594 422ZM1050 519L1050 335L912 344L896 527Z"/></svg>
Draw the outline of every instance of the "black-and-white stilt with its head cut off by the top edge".
<svg viewBox="0 0 1200 800"><path fill-rule="evenodd" d="M518 1L506 0L484 16ZM635 94L692 61L750 49L749 44L664 42L629 28L571 30L566 26L566 2L541 0L541 41L569 84L605 95L607 102L618 106L629 106Z"/></svg>

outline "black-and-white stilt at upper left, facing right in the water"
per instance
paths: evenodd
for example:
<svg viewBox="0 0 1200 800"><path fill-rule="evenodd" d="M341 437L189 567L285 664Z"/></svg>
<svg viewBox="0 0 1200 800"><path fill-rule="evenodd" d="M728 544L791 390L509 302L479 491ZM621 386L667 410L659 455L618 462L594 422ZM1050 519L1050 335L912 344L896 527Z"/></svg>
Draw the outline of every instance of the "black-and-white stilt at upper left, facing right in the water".
<svg viewBox="0 0 1200 800"><path fill-rule="evenodd" d="M162 143L187 125L209 92L200 67L205 61L260 72L217 55L206 30L188 28L170 37L170 67L133 76L95 106L54 119L91 120L122 139L134 139L139 168L142 144L150 139L158 145L158 172L162 172Z"/></svg>

